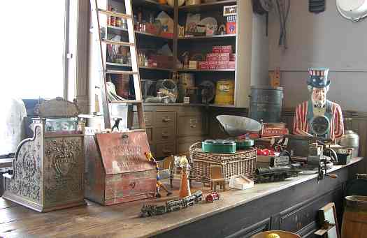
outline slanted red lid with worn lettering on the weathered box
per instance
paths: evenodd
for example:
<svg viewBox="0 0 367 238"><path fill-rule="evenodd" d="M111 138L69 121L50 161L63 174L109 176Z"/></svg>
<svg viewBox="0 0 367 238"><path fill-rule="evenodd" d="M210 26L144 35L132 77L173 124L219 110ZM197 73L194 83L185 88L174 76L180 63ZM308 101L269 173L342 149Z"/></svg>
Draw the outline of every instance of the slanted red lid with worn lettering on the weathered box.
<svg viewBox="0 0 367 238"><path fill-rule="evenodd" d="M96 141L106 174L154 170L144 155L150 152L145 132L99 133Z"/></svg>

